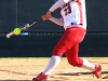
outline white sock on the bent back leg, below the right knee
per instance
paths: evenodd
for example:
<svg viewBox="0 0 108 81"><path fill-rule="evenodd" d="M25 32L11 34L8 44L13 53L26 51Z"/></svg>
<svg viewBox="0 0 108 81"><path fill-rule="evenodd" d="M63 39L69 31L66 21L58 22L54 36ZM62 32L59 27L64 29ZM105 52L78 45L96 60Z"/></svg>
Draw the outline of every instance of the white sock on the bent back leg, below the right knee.
<svg viewBox="0 0 108 81"><path fill-rule="evenodd" d="M89 63L84 58L82 58L82 59L83 59L83 65L81 66L81 68L87 69L87 70L91 70L91 71L95 71L95 65Z"/></svg>

